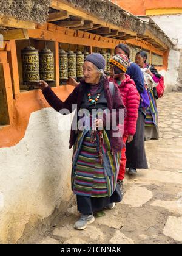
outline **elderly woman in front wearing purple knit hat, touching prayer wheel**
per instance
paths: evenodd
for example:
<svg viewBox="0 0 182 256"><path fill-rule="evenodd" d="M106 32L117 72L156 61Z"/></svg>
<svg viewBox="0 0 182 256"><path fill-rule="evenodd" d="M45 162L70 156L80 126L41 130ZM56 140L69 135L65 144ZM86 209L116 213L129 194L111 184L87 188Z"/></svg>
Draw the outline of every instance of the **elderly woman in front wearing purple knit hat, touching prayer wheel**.
<svg viewBox="0 0 182 256"><path fill-rule="evenodd" d="M73 111L73 104L84 111L83 117L77 121L78 131L70 134L70 148L73 148L72 158L72 190L76 194L80 218L75 229L85 229L95 218L93 212L103 208L113 208L115 202L122 200L117 177L120 166L122 135L118 132L120 113L126 116L126 108L120 96L118 87L110 84L104 75L105 60L101 54L90 54L84 60L84 79L75 87L66 101L62 102L53 93L47 83L39 82L45 99L56 110ZM112 112L112 110L115 110ZM94 114L97 110L97 114ZM122 111L123 110L123 111ZM99 115L103 111L103 116ZM112 125L115 117L115 127ZM74 120L75 118L73 118ZM110 120L110 129L106 129ZM82 122L83 121L83 122ZM79 129L80 122L83 123ZM89 124L89 125L88 125Z"/></svg>

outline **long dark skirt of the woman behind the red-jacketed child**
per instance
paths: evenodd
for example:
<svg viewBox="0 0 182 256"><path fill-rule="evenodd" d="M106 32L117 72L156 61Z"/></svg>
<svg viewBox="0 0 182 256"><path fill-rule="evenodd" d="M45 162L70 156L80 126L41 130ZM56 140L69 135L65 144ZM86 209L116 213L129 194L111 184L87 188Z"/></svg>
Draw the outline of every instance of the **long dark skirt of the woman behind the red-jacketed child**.
<svg viewBox="0 0 182 256"><path fill-rule="evenodd" d="M148 169L144 145L144 128L145 116L139 111L133 141L126 143L126 168Z"/></svg>

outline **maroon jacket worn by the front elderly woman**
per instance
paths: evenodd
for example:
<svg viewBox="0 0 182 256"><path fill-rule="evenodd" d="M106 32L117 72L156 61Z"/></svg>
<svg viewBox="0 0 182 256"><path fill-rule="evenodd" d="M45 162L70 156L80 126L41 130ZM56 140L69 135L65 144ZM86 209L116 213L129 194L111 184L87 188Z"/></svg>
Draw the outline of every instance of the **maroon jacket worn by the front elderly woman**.
<svg viewBox="0 0 182 256"><path fill-rule="evenodd" d="M77 104L77 111L80 109L81 101L83 99L85 88L87 84L82 81L81 84L79 84L73 92L68 96L66 101L61 101L55 93L51 90L50 87L45 87L44 90L42 90L42 93L44 94L45 99L49 103L51 107L53 107L56 111L59 112L59 110L66 108L70 111L70 113L73 111L72 104ZM117 85L115 85L115 93L112 96L109 90L109 80L104 79L104 93L107 99L107 108L110 110L110 113L112 112L112 109L116 109L116 116L117 116L117 124L119 121L119 109L124 110L124 117L127 115L126 108L124 107L123 101L121 99L120 91L118 90ZM118 152L121 151L121 149L124 146L123 138L122 137L114 137L113 133L116 131L110 130L110 143L112 152ZM75 144L76 141L76 131L71 129L70 133L70 146L69 148L72 148L73 144Z"/></svg>

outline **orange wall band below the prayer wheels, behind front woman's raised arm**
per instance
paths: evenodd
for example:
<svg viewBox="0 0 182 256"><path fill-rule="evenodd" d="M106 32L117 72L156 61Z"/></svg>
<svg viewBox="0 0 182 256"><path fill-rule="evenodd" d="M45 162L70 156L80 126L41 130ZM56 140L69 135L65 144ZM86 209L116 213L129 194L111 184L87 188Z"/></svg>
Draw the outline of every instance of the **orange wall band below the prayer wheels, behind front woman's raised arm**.
<svg viewBox="0 0 182 256"><path fill-rule="evenodd" d="M64 101L72 93L70 85L53 88L56 95ZM13 100L13 121L10 126L0 128L0 148L15 146L25 135L30 114L41 108L49 107L41 90L27 91L16 96Z"/></svg>

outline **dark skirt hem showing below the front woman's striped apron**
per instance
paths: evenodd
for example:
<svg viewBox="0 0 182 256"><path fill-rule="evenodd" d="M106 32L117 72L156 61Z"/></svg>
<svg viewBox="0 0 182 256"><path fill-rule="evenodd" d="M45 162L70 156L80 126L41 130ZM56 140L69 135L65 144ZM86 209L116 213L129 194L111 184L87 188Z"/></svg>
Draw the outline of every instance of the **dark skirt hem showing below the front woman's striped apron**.
<svg viewBox="0 0 182 256"><path fill-rule="evenodd" d="M121 202L122 194L120 187L118 184L116 185L116 189L113 192L112 196L108 197L89 197L89 196L76 196L77 198L77 208L78 211L84 215L93 214L93 212L98 212L103 210L108 204L113 202Z"/></svg>

